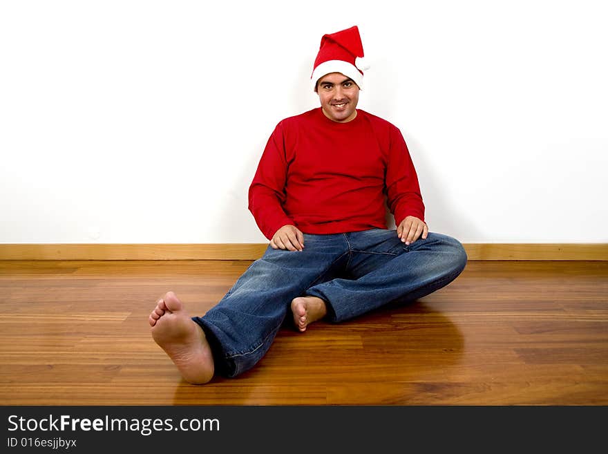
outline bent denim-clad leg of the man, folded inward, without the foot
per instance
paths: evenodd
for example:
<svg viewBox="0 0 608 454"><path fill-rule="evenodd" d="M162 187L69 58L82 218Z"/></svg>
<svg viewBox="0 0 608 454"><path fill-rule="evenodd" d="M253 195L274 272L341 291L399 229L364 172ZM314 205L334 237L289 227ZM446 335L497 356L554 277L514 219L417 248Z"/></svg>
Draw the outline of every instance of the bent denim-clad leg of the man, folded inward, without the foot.
<svg viewBox="0 0 608 454"><path fill-rule="evenodd" d="M334 279L310 288L308 296L328 303L332 321L344 321L393 301L415 301L448 285L464 269L466 252L449 236L429 233L409 246L394 230L348 234L354 279Z"/></svg>

